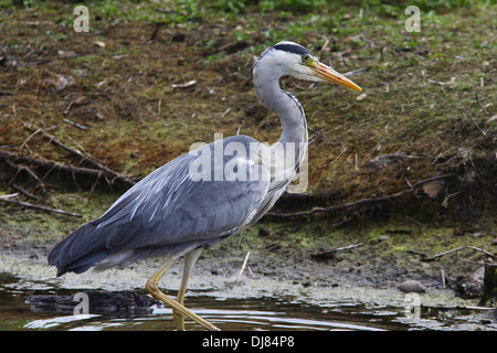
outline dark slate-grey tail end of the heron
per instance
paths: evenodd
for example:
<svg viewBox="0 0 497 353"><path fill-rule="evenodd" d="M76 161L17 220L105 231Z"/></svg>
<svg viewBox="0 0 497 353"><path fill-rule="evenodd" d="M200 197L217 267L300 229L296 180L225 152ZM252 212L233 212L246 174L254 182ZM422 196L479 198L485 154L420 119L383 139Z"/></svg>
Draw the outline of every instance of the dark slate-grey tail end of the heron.
<svg viewBox="0 0 497 353"><path fill-rule="evenodd" d="M95 224L85 223L50 252L49 265L57 267L57 277L82 274L107 256L105 237L98 233Z"/></svg>

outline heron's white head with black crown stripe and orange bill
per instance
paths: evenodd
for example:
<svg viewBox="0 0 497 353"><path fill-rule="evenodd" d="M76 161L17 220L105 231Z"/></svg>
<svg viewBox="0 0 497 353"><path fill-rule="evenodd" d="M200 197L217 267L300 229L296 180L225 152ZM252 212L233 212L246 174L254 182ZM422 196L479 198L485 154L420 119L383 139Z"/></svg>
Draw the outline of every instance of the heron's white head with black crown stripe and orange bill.
<svg viewBox="0 0 497 353"><path fill-rule="evenodd" d="M304 46L293 42L285 41L273 45L261 55L260 61L265 63L264 68L267 72L279 76L289 75L306 81L326 81L355 90L362 90L343 75L320 63Z"/></svg>

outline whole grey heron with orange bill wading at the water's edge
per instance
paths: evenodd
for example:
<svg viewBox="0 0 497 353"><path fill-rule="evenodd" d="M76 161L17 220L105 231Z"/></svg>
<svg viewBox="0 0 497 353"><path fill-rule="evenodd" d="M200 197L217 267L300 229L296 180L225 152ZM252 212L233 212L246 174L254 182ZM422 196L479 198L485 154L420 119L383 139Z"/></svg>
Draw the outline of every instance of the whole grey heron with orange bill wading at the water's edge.
<svg viewBox="0 0 497 353"><path fill-rule="evenodd" d="M284 75L361 90L299 44L284 41L267 49L253 66L253 81L258 100L281 119L279 140L267 146L248 136L232 136L158 168L52 249L47 259L56 266L57 277L165 256L165 265L146 284L148 292L172 307L178 330L184 330L184 315L218 330L183 306L188 279L204 247L253 225L274 205L304 159L306 117L297 98L279 87ZM175 300L160 291L158 282L181 256L183 276Z"/></svg>

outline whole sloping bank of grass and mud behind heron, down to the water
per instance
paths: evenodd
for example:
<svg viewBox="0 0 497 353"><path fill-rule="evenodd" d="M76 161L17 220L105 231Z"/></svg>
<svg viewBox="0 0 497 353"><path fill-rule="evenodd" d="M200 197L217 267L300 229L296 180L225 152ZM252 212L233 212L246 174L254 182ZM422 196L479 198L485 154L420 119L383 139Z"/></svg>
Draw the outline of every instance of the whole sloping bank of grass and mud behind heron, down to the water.
<svg viewBox="0 0 497 353"><path fill-rule="evenodd" d="M342 21L328 29L338 29L334 45L326 46L311 24L288 33L303 19L314 23L308 13L246 9L243 17L223 13L219 21L209 9L200 15L155 6L137 14L123 1L127 14L113 22L112 9L94 4L89 33L74 32L70 4L1 9L8 19L0 21L1 32L9 36L0 42L0 152L10 153L0 153L2 193L20 186L28 193L15 200L82 217L2 204L0 268L62 287L142 287L159 259L54 279L45 257L130 183L193 142L239 128L275 141L279 122L258 105L251 65L276 38L288 35L339 72L359 69L351 78L367 95L282 82L307 111L309 188L285 195L240 237L204 250L193 288L236 296L267 291L271 282L273 291L310 287L318 296L319 288L395 289L417 280L429 292L453 293L478 263L495 259L496 41L478 42L475 34L495 35L483 24L495 9L437 13L424 23L424 39L399 33L396 19L369 17L362 23L340 12ZM387 34L376 30L380 22ZM457 58L463 49L470 60ZM54 146L54 138L66 148ZM88 160L131 182L102 176ZM226 285L248 252L244 276L252 287ZM166 286L173 289L180 265L171 274Z"/></svg>

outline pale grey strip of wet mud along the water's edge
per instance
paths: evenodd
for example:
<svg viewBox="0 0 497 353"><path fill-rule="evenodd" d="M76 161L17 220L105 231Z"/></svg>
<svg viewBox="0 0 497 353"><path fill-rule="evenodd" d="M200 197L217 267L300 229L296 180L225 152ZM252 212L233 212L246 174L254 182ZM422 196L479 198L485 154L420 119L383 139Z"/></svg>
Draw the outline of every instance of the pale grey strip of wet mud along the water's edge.
<svg viewBox="0 0 497 353"><path fill-rule="evenodd" d="M20 250L3 250L0 260L2 269L18 277L19 282L25 289L53 287L72 290L136 290L146 293L144 290L145 282L161 264L159 260L149 260L130 265L124 269L103 272L89 270L82 275L68 274L55 278L54 269L47 267L43 258L36 257L42 252L33 253L31 250L29 257L25 257L27 254ZM318 306L343 300L403 306L405 300L405 293L398 290L393 281L384 282L383 286L367 286L361 284L360 280L353 281L352 276L340 276L340 281L334 281L334 277L337 280L339 279L336 272L330 274L327 268L310 265L299 266L298 271L292 270L289 266L282 267L279 270L272 270L269 266L262 274L254 269L261 266L261 259L251 261L253 263L251 266L253 269L237 279L237 271L240 270L237 267L243 258L224 258L222 261L223 267L221 268L214 258L205 257L199 260L191 277L187 299L199 295L211 296L216 299L287 296ZM171 295L175 293L179 288L181 274L181 264L175 265L162 279L162 289ZM429 292L423 295L423 298L425 304L432 306L472 304L470 301L455 297L453 291L441 290L434 286L430 286Z"/></svg>

